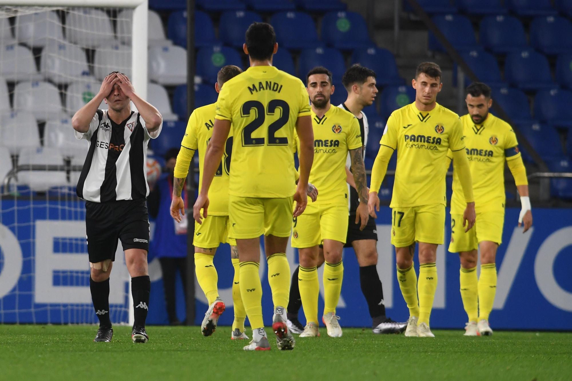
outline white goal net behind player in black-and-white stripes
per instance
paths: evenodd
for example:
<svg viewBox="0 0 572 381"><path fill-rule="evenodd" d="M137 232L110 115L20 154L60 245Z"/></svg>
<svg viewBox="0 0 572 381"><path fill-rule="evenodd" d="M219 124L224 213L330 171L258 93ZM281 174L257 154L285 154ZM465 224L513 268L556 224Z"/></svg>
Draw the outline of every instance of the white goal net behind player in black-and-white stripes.
<svg viewBox="0 0 572 381"><path fill-rule="evenodd" d="M98 321L85 203L76 196L88 143L74 137L72 116L116 70L145 92L146 67L132 65L133 13L134 6L0 6L0 323ZM129 300L119 244L112 322L129 323Z"/></svg>

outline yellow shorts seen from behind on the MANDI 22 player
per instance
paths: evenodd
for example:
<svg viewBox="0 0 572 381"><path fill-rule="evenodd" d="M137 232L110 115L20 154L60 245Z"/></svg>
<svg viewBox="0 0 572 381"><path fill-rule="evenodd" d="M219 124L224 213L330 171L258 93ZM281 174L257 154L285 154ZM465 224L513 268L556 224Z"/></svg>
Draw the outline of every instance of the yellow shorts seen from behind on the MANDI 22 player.
<svg viewBox="0 0 572 381"><path fill-rule="evenodd" d="M288 237L292 228L293 197L283 199L229 196L230 236L235 239L261 235Z"/></svg>

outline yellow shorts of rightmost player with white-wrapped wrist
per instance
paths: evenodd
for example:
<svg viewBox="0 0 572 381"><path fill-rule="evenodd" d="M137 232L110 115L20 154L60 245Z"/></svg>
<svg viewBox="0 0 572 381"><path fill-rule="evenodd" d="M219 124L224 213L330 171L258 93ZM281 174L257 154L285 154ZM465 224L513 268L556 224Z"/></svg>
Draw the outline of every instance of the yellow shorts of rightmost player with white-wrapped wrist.
<svg viewBox="0 0 572 381"><path fill-rule="evenodd" d="M449 251L458 253L479 248L479 242L502 243L502 229L505 224L505 211L490 211L476 215L475 225L464 231L463 215L451 215L451 243Z"/></svg>

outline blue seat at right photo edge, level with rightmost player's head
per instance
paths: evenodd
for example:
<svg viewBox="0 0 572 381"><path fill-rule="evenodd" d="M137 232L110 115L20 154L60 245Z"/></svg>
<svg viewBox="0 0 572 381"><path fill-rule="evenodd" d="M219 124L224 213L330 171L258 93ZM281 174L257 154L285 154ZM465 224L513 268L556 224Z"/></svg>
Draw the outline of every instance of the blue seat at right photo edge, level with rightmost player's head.
<svg viewBox="0 0 572 381"><path fill-rule="evenodd" d="M558 128L572 128L572 91L540 90L534 97L534 117Z"/></svg>

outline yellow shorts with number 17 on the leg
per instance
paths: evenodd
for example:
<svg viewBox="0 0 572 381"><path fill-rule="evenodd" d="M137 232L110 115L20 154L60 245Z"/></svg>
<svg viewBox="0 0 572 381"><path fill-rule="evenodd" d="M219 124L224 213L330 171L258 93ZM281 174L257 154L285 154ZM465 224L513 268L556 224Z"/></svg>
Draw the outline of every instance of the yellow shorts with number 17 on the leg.
<svg viewBox="0 0 572 381"><path fill-rule="evenodd" d="M393 208L391 211L391 244L395 247L406 247L415 242L442 245L444 235L443 204Z"/></svg>

